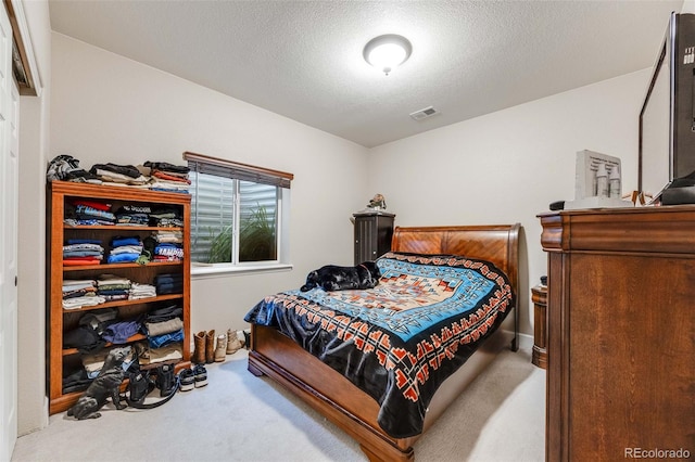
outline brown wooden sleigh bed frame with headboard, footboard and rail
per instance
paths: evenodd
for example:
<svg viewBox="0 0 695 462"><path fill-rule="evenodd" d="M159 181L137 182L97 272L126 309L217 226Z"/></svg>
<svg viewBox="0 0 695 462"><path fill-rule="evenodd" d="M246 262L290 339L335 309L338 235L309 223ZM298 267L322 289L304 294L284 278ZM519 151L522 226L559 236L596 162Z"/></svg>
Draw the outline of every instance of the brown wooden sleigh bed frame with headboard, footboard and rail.
<svg viewBox="0 0 695 462"><path fill-rule="evenodd" d="M396 227L391 249L418 254L463 255L492 261L505 271L519 295L519 229L509 226ZM518 304L518 301L517 301ZM484 344L446 378L434 395L425 419L425 433L463 389L494 359L510 341L518 349L518 308ZM511 332L509 332L509 325ZM359 442L370 461L415 459L413 445L422 435L393 438L377 423L379 405L340 373L309 355L273 328L252 324L249 371L268 375L302 398Z"/></svg>

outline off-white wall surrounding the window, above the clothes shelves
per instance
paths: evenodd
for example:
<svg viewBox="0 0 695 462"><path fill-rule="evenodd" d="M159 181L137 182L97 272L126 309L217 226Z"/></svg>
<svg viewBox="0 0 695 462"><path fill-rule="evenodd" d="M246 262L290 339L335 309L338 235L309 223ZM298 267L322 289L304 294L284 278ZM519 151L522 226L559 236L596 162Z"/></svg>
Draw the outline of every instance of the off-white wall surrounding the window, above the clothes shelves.
<svg viewBox="0 0 695 462"><path fill-rule="evenodd" d="M193 332L243 329L263 296L326 262L352 262L350 215L371 196L367 150L99 48L53 34L51 155L93 164L185 165L185 151L294 174L294 270L194 278Z"/></svg>

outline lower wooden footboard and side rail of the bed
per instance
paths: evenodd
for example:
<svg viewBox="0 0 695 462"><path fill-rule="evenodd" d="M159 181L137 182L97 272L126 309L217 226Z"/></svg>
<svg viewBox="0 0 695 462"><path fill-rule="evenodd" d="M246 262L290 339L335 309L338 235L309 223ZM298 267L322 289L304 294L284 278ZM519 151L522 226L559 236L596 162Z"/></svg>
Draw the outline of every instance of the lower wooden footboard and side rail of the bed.
<svg viewBox="0 0 695 462"><path fill-rule="evenodd" d="M509 332L497 330L442 384L428 408L424 432L509 344L510 337ZM414 460L413 445L421 435L392 438L383 433L377 423L379 405L374 398L275 329L251 326L249 371L254 375L273 377L304 400L359 442L370 461Z"/></svg>

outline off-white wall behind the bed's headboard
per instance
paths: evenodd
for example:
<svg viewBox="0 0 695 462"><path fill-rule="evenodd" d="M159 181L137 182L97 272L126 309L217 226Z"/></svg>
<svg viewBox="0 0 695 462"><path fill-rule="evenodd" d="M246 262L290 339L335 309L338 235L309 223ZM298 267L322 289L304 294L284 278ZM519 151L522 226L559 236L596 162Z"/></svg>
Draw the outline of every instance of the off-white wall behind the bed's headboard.
<svg viewBox="0 0 695 462"><path fill-rule="evenodd" d="M645 69L374 147L369 188L397 224L520 222L521 330L532 333L530 287L547 273L539 213L574 197L574 158L621 158L623 192L637 183L637 115Z"/></svg>

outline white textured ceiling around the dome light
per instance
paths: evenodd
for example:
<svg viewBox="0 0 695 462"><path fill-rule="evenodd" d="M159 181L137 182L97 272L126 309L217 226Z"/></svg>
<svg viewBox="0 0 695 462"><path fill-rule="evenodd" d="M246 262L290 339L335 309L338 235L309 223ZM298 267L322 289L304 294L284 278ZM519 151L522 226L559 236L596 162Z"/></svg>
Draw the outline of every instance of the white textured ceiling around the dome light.
<svg viewBox="0 0 695 462"><path fill-rule="evenodd" d="M649 67L682 4L49 2L58 33L367 147ZM389 76L362 56L382 34L413 43Z"/></svg>

